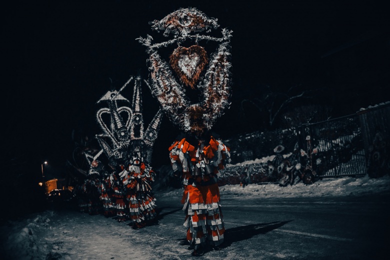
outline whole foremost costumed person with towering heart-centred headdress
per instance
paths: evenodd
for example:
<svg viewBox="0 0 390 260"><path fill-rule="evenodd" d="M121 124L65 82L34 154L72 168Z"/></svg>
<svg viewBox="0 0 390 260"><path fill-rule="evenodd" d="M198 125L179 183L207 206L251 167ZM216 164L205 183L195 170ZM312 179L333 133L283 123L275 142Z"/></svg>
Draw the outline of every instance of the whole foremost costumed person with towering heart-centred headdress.
<svg viewBox="0 0 390 260"><path fill-rule="evenodd" d="M221 37L205 34L219 27L217 19L196 8L181 8L150 23L152 29L163 31L164 36L173 35L154 44L150 35L138 40L149 54L148 85L152 95L169 119L185 132L169 147L169 156L173 170L181 172L183 179L181 202L186 239L194 248L192 254L199 255L206 242L214 248L223 242L224 223L216 178L230 161L229 148L210 130L230 104L232 31L221 29ZM218 44L211 55L199 44L209 41ZM172 44L177 47L167 62L158 50ZM195 103L187 95L194 91L200 92Z"/></svg>

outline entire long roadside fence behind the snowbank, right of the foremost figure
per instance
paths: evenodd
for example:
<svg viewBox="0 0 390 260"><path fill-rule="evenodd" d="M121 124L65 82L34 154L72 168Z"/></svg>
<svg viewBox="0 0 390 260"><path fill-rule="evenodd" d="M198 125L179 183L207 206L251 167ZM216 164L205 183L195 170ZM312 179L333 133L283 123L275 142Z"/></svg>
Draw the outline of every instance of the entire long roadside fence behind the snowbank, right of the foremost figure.
<svg viewBox="0 0 390 260"><path fill-rule="evenodd" d="M295 128L249 133L228 142L232 164L256 158L250 163L256 166L257 178L253 181L257 182L277 181L285 175L283 170L290 175L292 171L302 175L309 170L314 177L367 173L379 177L390 174L389 127L390 101L351 115ZM275 150L280 144L282 153ZM278 154L283 157L276 159ZM230 170L231 176L239 175L244 168L229 166L226 174Z"/></svg>

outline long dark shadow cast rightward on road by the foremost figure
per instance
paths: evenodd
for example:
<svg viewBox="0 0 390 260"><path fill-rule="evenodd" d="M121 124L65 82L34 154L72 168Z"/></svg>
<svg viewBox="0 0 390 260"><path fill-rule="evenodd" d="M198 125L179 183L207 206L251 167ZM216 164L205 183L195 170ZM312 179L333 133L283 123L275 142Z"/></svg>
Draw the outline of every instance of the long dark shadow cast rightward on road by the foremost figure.
<svg viewBox="0 0 390 260"><path fill-rule="evenodd" d="M224 241L221 244L221 248L228 247L234 242L238 242L241 240L248 239L257 234L265 234L273 229L279 228L280 226L292 221L275 221L270 223L258 223L258 224L250 224L237 226L233 228L228 228L224 233Z"/></svg>

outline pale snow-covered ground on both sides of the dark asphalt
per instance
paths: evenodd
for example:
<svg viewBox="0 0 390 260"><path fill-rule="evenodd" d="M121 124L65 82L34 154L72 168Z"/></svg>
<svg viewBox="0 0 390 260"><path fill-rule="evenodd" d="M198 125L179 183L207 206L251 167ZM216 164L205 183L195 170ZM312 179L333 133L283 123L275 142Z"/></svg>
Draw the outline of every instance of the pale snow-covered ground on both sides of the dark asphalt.
<svg viewBox="0 0 390 260"><path fill-rule="evenodd" d="M277 184L248 184L244 188L240 185L225 185L220 187L221 198L250 199L250 197L280 198L302 196L353 196L367 193L390 191L390 176L373 179L368 176L325 178L311 185L298 183L292 186L280 187ZM178 199L182 189L157 192L156 198ZM223 201L222 201L223 202ZM147 247L141 258L153 259L152 253L166 255L164 246L151 247L149 245L132 244L131 230L125 223L107 219L101 223L96 221L101 216L89 216L85 213L71 216L62 215L61 211L46 210L31 214L25 218L1 223L1 256L2 259L92 259L90 250L93 250L95 259L130 259L130 254L138 253L140 248ZM58 219L66 218L66 223ZM111 221L108 221L111 220ZM87 223L87 224L86 224ZM82 224L82 225L81 225ZM100 230L101 224L109 225L110 230ZM90 230L78 230L79 226L87 226ZM157 228L157 227L147 227ZM105 228L104 230L107 230ZM141 230L139 230L141 231ZM142 235L149 235L148 231ZM149 237L149 239L156 239ZM161 239L161 238L160 238ZM166 241L165 246L169 244ZM126 250L122 250L126 247ZM177 249L186 251L185 248ZM178 254L183 253L177 251ZM177 258L177 257L176 257ZM175 259L174 255L167 255L165 259Z"/></svg>

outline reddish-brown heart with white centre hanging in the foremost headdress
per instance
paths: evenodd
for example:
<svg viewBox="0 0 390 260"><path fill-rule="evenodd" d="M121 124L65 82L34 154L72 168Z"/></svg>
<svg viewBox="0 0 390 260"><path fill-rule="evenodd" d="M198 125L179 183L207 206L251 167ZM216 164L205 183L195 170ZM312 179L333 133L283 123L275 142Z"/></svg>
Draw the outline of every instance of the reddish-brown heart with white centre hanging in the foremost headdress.
<svg viewBox="0 0 390 260"><path fill-rule="evenodd" d="M192 45L189 48L178 46L173 50L169 59L170 66L181 82L194 89L194 84L208 61L204 48L198 45Z"/></svg>

